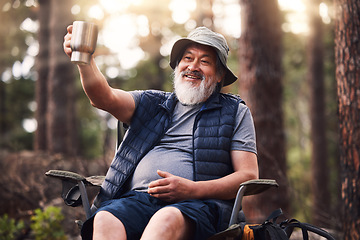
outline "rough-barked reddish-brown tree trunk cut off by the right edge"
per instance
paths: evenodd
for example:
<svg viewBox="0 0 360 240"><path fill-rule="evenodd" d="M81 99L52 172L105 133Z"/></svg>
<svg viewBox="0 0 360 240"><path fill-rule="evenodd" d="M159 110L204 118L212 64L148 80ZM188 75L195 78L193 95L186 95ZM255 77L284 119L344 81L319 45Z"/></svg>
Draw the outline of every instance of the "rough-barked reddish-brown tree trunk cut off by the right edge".
<svg viewBox="0 0 360 240"><path fill-rule="evenodd" d="M344 239L360 238L360 2L335 0Z"/></svg>

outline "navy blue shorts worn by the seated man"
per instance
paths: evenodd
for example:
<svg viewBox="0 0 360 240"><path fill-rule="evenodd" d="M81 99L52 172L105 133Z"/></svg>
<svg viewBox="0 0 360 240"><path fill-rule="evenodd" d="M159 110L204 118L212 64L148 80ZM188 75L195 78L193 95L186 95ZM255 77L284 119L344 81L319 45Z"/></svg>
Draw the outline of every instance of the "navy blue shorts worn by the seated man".
<svg viewBox="0 0 360 240"><path fill-rule="evenodd" d="M196 226L194 239L207 239L219 232L220 209L212 200L186 200L178 203L168 203L150 196L148 193L130 191L121 196L102 203L97 210L108 211L116 216L126 229L128 240L140 239L150 218L159 209L172 206L178 208L189 217ZM96 214L96 213L95 213ZM94 214L94 215L95 215ZM92 239L93 219L88 219L81 229L83 239Z"/></svg>

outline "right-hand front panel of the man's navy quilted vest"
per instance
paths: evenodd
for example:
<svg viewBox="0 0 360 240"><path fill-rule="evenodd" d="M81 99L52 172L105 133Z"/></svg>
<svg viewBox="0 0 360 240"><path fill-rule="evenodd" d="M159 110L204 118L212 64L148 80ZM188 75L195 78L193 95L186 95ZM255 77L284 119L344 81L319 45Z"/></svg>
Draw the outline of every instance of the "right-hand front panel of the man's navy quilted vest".
<svg viewBox="0 0 360 240"><path fill-rule="evenodd" d="M240 98L218 95L207 102L194 126L194 179L204 181L226 176L234 169L230 158L231 137Z"/></svg>

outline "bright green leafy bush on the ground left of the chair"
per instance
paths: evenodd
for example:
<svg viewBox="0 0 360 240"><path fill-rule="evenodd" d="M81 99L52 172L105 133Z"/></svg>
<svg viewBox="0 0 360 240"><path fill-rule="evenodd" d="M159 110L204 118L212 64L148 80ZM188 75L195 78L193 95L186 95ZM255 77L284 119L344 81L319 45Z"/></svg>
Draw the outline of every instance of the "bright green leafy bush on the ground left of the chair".
<svg viewBox="0 0 360 240"><path fill-rule="evenodd" d="M61 213L61 208L48 207L44 211L41 209L35 210L35 215L31 217L31 230L36 240L65 240L65 232L61 227L61 221L64 216Z"/></svg>

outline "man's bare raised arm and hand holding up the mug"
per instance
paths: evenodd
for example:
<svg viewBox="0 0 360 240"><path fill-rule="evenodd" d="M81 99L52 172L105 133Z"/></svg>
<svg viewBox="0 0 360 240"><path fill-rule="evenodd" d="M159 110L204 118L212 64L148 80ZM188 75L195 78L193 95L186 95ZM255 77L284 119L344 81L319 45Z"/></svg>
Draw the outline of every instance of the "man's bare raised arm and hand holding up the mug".
<svg viewBox="0 0 360 240"><path fill-rule="evenodd" d="M70 42L72 25L64 37L64 52L71 57ZM135 111L135 102L130 93L109 86L104 75L96 66L94 58L89 65L78 65L83 89L94 107L105 110L124 123L130 123Z"/></svg>

